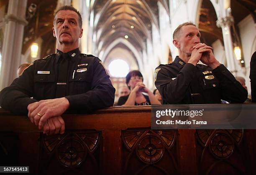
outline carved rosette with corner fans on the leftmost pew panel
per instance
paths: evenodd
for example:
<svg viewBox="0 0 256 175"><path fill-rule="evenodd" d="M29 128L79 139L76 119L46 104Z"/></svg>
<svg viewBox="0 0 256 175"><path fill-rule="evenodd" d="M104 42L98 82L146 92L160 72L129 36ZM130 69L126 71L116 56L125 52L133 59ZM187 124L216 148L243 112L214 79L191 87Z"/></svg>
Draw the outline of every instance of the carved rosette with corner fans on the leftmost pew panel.
<svg viewBox="0 0 256 175"><path fill-rule="evenodd" d="M44 145L51 153L56 151L57 159L66 167L74 167L92 154L99 145L100 132L66 133L44 135Z"/></svg>

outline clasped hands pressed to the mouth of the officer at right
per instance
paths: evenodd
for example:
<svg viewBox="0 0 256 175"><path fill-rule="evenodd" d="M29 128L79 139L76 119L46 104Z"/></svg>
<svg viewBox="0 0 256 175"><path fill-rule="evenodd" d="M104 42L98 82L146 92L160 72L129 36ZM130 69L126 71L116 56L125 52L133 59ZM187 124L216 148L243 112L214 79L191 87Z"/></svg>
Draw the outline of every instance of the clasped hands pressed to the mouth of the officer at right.
<svg viewBox="0 0 256 175"><path fill-rule="evenodd" d="M204 43L198 43L192 48L193 51L188 61L189 63L196 65L197 62L200 60L202 61L202 63L208 65L212 69L215 69L220 65L220 62L218 62L218 60L216 60L216 58L213 55L212 47Z"/></svg>

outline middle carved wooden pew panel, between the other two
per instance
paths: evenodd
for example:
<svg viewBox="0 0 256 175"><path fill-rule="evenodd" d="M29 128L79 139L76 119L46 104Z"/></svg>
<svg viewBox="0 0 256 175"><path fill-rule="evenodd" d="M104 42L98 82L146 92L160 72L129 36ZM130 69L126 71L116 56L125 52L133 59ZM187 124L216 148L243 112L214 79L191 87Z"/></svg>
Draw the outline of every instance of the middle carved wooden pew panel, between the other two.
<svg viewBox="0 0 256 175"><path fill-rule="evenodd" d="M124 130L122 174L178 173L176 130Z"/></svg>

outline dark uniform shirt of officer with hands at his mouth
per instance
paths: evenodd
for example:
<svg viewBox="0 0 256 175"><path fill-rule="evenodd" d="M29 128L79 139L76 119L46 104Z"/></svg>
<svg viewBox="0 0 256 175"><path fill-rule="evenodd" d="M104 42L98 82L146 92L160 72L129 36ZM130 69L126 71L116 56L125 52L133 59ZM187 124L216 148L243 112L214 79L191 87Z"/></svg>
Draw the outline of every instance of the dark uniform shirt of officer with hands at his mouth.
<svg viewBox="0 0 256 175"><path fill-rule="evenodd" d="M205 65L185 63L178 56L174 62L159 65L155 85L164 104L242 103L247 91L224 65L214 70Z"/></svg>

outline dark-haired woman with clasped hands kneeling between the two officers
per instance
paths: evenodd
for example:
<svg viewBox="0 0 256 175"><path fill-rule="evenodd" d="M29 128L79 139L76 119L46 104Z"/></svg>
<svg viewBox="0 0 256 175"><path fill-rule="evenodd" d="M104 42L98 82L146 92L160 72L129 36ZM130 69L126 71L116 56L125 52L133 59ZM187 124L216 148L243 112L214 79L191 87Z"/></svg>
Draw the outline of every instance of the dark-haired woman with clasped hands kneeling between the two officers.
<svg viewBox="0 0 256 175"><path fill-rule="evenodd" d="M161 105L154 94L143 84L143 76L140 71L133 70L126 75L126 84L131 90L129 95L120 97L118 105ZM147 93L148 95L143 94Z"/></svg>

